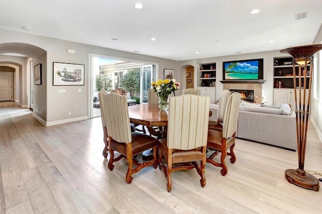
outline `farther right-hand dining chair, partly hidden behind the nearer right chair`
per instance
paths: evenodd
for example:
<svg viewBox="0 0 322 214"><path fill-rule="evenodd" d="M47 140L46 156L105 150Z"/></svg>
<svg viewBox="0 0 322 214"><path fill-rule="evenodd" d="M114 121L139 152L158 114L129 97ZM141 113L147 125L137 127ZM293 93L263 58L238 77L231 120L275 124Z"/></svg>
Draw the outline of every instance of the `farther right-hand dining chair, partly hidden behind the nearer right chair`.
<svg viewBox="0 0 322 214"><path fill-rule="evenodd" d="M218 103L218 110L217 110L217 121L209 121L209 129L222 131L222 123L223 117L225 114L226 104L228 97L230 95L229 90L223 90L220 93L219 103Z"/></svg>

